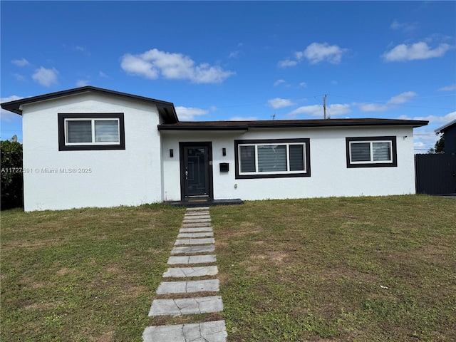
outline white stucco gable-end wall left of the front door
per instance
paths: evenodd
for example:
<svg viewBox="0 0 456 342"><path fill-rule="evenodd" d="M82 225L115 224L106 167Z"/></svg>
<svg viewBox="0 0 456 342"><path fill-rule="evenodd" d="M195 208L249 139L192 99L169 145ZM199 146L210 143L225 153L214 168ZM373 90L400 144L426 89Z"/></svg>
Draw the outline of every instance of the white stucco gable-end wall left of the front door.
<svg viewBox="0 0 456 342"><path fill-rule="evenodd" d="M162 201L155 105L83 93L22 110L26 211ZM125 150L59 151L58 113L124 113ZM76 173L63 173L63 168ZM90 172L79 173L81 169Z"/></svg>

